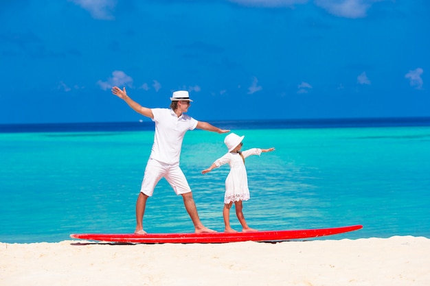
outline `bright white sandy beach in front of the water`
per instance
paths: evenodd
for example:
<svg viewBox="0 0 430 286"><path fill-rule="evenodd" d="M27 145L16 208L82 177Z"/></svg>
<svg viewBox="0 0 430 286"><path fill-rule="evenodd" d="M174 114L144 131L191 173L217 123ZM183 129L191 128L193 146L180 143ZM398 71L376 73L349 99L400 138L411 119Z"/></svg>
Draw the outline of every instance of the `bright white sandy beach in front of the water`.
<svg viewBox="0 0 430 286"><path fill-rule="evenodd" d="M430 285L430 239L0 243L1 286Z"/></svg>

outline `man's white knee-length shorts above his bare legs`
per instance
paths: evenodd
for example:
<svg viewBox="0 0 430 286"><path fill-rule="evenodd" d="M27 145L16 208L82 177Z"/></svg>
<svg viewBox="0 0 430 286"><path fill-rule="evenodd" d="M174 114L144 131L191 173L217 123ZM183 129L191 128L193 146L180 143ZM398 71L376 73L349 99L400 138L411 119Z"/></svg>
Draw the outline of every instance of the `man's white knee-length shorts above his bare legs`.
<svg viewBox="0 0 430 286"><path fill-rule="evenodd" d="M170 165L151 158L146 165L144 180L142 180L140 191L145 195L152 196L155 186L161 178L166 178L177 195L191 192L190 185L179 167L179 164Z"/></svg>

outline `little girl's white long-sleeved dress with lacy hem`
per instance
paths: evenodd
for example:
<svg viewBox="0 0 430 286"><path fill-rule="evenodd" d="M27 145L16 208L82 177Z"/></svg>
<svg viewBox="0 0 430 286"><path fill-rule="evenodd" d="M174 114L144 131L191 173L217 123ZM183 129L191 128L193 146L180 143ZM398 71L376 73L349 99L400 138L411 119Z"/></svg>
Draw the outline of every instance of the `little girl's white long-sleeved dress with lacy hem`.
<svg viewBox="0 0 430 286"><path fill-rule="evenodd" d="M260 148L252 148L242 152L244 158L251 155L260 155ZM238 153L229 152L215 160L216 167L224 164L230 165L230 172L225 179L224 203L249 200L248 176L242 156Z"/></svg>

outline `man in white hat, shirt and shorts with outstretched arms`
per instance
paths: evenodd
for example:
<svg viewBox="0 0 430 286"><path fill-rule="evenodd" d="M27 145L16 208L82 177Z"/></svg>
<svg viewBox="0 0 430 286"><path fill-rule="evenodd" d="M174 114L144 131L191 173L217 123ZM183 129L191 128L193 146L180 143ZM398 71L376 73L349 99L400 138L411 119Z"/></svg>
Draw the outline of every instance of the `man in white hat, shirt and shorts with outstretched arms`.
<svg viewBox="0 0 430 286"><path fill-rule="evenodd" d="M188 91L175 91L172 97L170 97L172 101L170 109L146 108L141 106L128 97L125 87L121 90L117 86L113 86L112 93L124 99L126 104L133 108L133 110L141 115L149 117L155 122L154 143L136 202L135 234L146 234L143 226L146 200L152 195L155 186L161 178L166 178L166 180L168 180L177 195L182 195L183 204L185 205L188 215L190 215L192 219L195 232L214 232L214 230L203 226L200 221L196 204L192 198L192 191L185 175L179 167L179 157L181 156L183 136L185 136L185 132L188 130L198 128L218 133L227 133L230 130L223 130L212 126L210 123L197 121L185 115L184 113L188 111L190 102L192 102L188 95Z"/></svg>

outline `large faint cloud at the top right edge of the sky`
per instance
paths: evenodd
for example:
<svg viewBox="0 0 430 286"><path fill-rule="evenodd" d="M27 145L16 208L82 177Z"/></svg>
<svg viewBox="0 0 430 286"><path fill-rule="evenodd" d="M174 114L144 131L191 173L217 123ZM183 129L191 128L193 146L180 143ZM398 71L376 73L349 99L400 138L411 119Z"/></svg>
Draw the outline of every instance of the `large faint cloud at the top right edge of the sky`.
<svg viewBox="0 0 430 286"><path fill-rule="evenodd" d="M330 14L345 18L364 18L373 3L381 0L315 0L315 5Z"/></svg>

